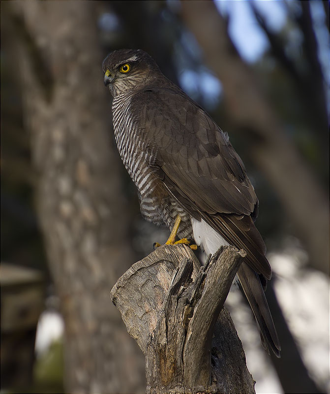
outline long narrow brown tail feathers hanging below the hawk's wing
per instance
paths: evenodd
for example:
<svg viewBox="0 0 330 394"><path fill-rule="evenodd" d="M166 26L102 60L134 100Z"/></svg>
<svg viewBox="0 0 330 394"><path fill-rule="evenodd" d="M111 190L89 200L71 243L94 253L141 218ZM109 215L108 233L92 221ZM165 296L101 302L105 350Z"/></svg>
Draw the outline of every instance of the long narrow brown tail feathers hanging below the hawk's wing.
<svg viewBox="0 0 330 394"><path fill-rule="evenodd" d="M247 263L242 263L237 275L256 317L263 347L269 354L272 350L280 358L281 346L258 274Z"/></svg>

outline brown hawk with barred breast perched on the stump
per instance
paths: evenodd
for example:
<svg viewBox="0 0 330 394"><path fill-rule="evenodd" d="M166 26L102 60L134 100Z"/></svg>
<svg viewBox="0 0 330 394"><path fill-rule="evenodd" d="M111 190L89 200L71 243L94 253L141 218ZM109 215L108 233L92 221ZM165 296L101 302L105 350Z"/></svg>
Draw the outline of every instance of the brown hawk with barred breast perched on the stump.
<svg viewBox="0 0 330 394"><path fill-rule="evenodd" d="M103 72L113 96L115 139L138 188L142 215L175 229L169 243L178 230L180 238L193 237L207 255L221 245L246 251L237 273L240 286L264 348L279 357L264 294L271 269L254 225L258 199L228 134L142 50L110 53Z"/></svg>

